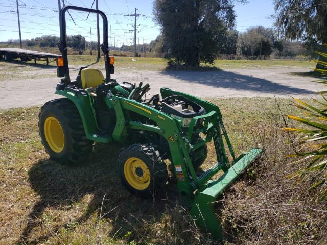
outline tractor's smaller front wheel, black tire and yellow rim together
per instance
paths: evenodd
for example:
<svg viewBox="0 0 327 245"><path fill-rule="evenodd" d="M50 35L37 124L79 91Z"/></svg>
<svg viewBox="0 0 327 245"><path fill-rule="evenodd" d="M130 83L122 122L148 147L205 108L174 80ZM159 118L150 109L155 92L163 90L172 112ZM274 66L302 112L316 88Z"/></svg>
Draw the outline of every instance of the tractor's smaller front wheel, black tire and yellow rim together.
<svg viewBox="0 0 327 245"><path fill-rule="evenodd" d="M118 168L122 183L143 197L154 196L156 190L167 183L166 163L148 144L133 144L125 148L119 155Z"/></svg>

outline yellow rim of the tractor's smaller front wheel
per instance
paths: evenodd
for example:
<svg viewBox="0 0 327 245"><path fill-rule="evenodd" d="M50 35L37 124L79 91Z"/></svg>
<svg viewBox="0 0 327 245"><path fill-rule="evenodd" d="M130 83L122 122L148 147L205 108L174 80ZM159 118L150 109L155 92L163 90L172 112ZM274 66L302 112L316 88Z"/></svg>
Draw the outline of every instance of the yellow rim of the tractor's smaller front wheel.
<svg viewBox="0 0 327 245"><path fill-rule="evenodd" d="M130 157L124 164L125 178L133 188L144 190L150 185L150 171L147 164L137 157Z"/></svg>

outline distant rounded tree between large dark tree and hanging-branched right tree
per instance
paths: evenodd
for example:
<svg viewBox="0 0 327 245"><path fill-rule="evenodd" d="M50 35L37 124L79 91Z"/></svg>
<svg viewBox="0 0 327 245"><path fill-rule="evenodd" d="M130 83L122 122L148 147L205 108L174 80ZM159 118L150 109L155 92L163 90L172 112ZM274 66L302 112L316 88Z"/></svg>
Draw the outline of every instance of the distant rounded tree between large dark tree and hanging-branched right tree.
<svg viewBox="0 0 327 245"><path fill-rule="evenodd" d="M237 41L238 55L270 55L274 44L274 31L263 26L248 28L239 35Z"/></svg>

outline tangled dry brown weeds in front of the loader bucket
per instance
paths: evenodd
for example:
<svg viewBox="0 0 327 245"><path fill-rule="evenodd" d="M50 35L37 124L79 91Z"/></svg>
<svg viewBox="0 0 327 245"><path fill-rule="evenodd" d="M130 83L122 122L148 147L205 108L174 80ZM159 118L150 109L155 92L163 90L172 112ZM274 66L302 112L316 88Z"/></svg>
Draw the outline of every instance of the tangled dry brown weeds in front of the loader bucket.
<svg viewBox="0 0 327 245"><path fill-rule="evenodd" d="M218 202L226 240L229 244L325 244L327 206L309 191L317 173L307 173L304 181L289 179L307 163L287 157L294 154L296 140L278 130L286 126L284 117L265 113L261 120L253 119L245 144L263 145L265 152ZM286 121L291 127L292 123Z"/></svg>

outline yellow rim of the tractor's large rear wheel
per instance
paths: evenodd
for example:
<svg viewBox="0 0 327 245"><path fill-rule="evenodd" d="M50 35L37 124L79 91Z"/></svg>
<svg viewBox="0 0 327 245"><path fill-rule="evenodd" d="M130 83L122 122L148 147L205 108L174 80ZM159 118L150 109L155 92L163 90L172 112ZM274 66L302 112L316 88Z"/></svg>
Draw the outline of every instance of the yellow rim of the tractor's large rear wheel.
<svg viewBox="0 0 327 245"><path fill-rule="evenodd" d="M44 122L44 135L52 151L60 153L65 144L65 137L59 121L49 116Z"/></svg>

